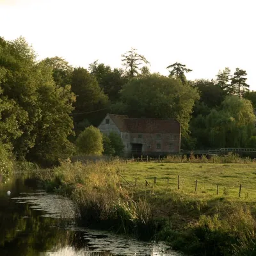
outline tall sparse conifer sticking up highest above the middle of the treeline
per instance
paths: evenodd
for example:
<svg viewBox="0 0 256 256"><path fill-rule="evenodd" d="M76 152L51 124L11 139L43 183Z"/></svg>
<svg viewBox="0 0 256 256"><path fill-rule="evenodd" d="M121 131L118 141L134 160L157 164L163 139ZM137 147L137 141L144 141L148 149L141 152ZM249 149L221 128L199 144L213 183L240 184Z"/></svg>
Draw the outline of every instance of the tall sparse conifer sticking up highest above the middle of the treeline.
<svg viewBox="0 0 256 256"><path fill-rule="evenodd" d="M130 51L122 54L123 65L127 68L128 77L131 79L139 74L139 66L150 64L145 56L138 54L137 50L132 48Z"/></svg>

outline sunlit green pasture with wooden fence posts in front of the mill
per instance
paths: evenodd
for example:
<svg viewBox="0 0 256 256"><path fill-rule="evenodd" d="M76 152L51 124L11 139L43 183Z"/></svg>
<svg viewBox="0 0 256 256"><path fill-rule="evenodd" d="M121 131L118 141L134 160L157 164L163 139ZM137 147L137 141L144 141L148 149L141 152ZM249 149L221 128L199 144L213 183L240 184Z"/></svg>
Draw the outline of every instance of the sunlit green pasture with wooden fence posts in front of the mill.
<svg viewBox="0 0 256 256"><path fill-rule="evenodd" d="M256 164L209 163L128 163L122 164L120 173L123 184L136 184L137 191L154 190L154 193L177 191L189 197L218 198L243 202L256 201ZM178 175L180 189L178 189ZM121 177L121 178L122 178ZM156 177L156 184L154 179ZM169 184L168 184L169 179ZM127 180L127 182L125 181ZM150 186L145 187L145 180ZM197 189L195 185L197 180ZM218 184L218 195L217 195ZM239 187L241 197L239 198Z"/></svg>

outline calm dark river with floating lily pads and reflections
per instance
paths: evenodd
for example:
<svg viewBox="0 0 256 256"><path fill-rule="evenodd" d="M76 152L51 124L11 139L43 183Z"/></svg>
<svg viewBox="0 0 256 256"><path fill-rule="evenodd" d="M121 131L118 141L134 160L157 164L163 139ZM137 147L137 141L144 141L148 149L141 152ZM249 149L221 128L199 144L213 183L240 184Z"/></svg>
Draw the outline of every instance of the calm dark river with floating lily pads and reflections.
<svg viewBox="0 0 256 256"><path fill-rule="evenodd" d="M35 182L0 185L0 255L180 255L161 243L76 227L73 214L69 200L45 193Z"/></svg>

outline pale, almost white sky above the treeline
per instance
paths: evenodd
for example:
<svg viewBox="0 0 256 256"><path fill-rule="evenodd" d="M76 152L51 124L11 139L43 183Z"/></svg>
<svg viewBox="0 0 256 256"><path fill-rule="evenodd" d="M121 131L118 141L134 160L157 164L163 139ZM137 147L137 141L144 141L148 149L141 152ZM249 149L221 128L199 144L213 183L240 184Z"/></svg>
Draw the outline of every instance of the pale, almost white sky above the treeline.
<svg viewBox="0 0 256 256"><path fill-rule="evenodd" d="M122 67L131 47L163 75L175 62L188 79L225 67L246 70L256 90L253 0L0 0L0 36L26 38L38 60L59 56L74 67L99 60ZM254 25L253 25L254 24Z"/></svg>

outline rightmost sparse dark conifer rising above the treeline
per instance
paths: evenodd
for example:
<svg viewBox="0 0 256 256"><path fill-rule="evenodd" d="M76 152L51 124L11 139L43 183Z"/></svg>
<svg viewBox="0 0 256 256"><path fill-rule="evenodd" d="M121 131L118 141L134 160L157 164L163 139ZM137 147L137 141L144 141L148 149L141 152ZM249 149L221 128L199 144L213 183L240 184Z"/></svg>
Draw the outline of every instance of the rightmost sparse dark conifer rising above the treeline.
<svg viewBox="0 0 256 256"><path fill-rule="evenodd" d="M239 98L249 90L249 84L246 84L247 77L245 76L247 76L245 70L236 68L236 72L234 72L234 76L231 78L231 86Z"/></svg>

